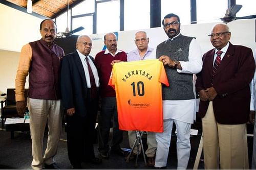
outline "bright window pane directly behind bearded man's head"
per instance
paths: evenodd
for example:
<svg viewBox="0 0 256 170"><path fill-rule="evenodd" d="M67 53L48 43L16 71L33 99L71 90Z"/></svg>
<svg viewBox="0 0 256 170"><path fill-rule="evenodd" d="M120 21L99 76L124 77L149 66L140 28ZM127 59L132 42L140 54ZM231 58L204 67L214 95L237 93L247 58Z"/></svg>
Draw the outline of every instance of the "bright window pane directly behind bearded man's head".
<svg viewBox="0 0 256 170"><path fill-rule="evenodd" d="M190 0L161 0L161 23L164 16L169 13L178 15L182 25L190 24Z"/></svg>

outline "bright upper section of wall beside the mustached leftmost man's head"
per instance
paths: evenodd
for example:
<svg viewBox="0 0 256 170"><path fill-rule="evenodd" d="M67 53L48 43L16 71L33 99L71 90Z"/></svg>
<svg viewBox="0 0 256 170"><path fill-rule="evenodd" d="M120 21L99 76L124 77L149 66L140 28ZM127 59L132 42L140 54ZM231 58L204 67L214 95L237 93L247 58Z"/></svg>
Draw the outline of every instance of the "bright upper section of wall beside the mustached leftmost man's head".
<svg viewBox="0 0 256 170"><path fill-rule="evenodd" d="M0 4L0 50L20 52L22 46L40 39L42 19Z"/></svg>

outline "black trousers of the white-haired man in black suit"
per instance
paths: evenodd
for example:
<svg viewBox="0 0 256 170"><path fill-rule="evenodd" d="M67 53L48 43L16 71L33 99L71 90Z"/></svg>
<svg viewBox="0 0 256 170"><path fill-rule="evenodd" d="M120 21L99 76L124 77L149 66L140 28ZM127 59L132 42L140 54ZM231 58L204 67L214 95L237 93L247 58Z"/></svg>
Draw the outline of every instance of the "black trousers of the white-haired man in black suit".
<svg viewBox="0 0 256 170"><path fill-rule="evenodd" d="M67 115L68 156L72 166L79 167L81 162L95 158L93 143L95 139L95 122L97 103L87 104L86 116Z"/></svg>

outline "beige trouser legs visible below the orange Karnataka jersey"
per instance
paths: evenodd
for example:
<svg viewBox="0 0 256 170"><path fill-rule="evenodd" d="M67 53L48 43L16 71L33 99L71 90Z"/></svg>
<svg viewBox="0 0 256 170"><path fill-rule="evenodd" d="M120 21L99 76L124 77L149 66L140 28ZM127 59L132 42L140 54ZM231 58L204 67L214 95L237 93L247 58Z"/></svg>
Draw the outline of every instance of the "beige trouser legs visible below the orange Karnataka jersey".
<svg viewBox="0 0 256 170"><path fill-rule="evenodd" d="M136 139L136 132L135 131L128 131L128 137L129 137L129 145L130 148L133 147L134 141ZM156 155L156 149L157 149L157 141L156 141L156 133L155 132L147 132L147 150L145 152L147 157L154 157ZM133 150L133 153L137 153L137 147L135 145L135 148ZM139 154L141 153L141 146L139 146Z"/></svg>

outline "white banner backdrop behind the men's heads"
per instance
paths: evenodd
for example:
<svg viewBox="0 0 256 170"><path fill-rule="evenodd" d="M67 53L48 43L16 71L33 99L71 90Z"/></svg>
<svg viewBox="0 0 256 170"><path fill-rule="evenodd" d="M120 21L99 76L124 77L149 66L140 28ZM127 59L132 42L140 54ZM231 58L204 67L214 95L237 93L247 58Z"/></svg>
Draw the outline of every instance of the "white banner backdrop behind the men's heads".
<svg viewBox="0 0 256 170"><path fill-rule="evenodd" d="M201 45L202 53L205 53L213 48L208 34L210 34L212 26L214 26L216 23L181 25L181 33L183 35L196 37L197 41ZM252 49L256 48L255 19L235 20L228 23L228 26L231 32L230 42L232 44L245 45ZM118 32L117 47L125 52L134 50L136 48L134 39L137 31L138 30ZM147 36L150 38L149 45L153 48L156 48L160 42L167 39L167 35L165 34L163 28L152 28L144 31L147 32ZM94 57L99 51L102 50L104 46L104 34L93 34L91 37L93 39L91 55Z"/></svg>

